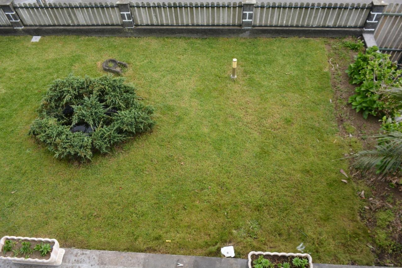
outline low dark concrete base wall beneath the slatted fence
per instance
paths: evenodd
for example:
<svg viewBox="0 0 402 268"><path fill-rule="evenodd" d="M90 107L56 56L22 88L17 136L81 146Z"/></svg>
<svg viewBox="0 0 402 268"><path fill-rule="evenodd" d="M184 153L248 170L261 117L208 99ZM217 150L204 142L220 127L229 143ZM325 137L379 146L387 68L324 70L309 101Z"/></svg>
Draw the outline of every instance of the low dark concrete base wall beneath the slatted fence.
<svg viewBox="0 0 402 268"><path fill-rule="evenodd" d="M254 27L244 29L235 26L84 26L84 27L0 27L0 35L86 35L121 37L343 37L359 36L359 28L296 28L296 27Z"/></svg>

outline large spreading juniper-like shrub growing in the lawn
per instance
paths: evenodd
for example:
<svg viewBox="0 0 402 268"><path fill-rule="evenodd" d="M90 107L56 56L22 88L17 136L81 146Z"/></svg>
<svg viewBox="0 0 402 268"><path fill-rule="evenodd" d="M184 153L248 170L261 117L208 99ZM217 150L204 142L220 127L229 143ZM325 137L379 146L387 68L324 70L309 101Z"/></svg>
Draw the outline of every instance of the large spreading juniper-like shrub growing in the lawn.
<svg viewBox="0 0 402 268"><path fill-rule="evenodd" d="M68 76L53 81L29 134L56 158L87 161L135 134L149 131L154 109L138 100L125 78Z"/></svg>

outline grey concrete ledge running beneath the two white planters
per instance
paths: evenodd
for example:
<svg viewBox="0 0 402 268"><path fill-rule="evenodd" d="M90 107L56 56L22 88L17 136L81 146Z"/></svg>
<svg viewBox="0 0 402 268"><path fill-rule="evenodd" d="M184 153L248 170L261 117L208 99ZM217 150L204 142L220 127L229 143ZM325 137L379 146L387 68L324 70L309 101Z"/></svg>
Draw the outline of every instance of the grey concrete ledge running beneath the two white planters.
<svg viewBox="0 0 402 268"><path fill-rule="evenodd" d="M89 249L66 248L63 263L60 266L38 266L14 264L0 260L2 268L247 268L246 259L211 258L183 255L163 255L135 252L117 252ZM314 268L374 268L375 266L351 266L336 264L314 264Z"/></svg>

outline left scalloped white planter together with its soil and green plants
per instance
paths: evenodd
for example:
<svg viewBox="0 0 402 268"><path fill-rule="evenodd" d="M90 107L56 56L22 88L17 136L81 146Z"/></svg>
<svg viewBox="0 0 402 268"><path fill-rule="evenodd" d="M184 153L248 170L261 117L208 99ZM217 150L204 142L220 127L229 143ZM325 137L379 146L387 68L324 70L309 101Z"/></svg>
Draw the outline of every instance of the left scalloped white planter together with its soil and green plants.
<svg viewBox="0 0 402 268"><path fill-rule="evenodd" d="M64 249L56 239L5 236L0 240L0 259L25 264L60 265Z"/></svg>

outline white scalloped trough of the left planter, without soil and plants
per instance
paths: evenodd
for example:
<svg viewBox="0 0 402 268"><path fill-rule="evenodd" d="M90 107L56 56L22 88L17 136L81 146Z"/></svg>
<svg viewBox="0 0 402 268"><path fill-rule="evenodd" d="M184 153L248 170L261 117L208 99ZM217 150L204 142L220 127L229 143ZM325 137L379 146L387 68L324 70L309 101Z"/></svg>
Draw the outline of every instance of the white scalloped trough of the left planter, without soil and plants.
<svg viewBox="0 0 402 268"><path fill-rule="evenodd" d="M3 250L4 242L7 239L23 239L29 241L40 241L40 242L48 242L54 243L53 249L50 253L50 258L47 260L40 260L40 259L31 259L31 258L17 258L17 257L4 257L0 256L0 260L10 260L16 263L25 263L25 264L41 264L41 265L53 265L57 266L62 264L63 256L64 256L64 249L60 248L59 242L56 239L49 239L49 238L36 238L36 237L21 237L21 236L4 236L0 240L0 252Z"/></svg>

